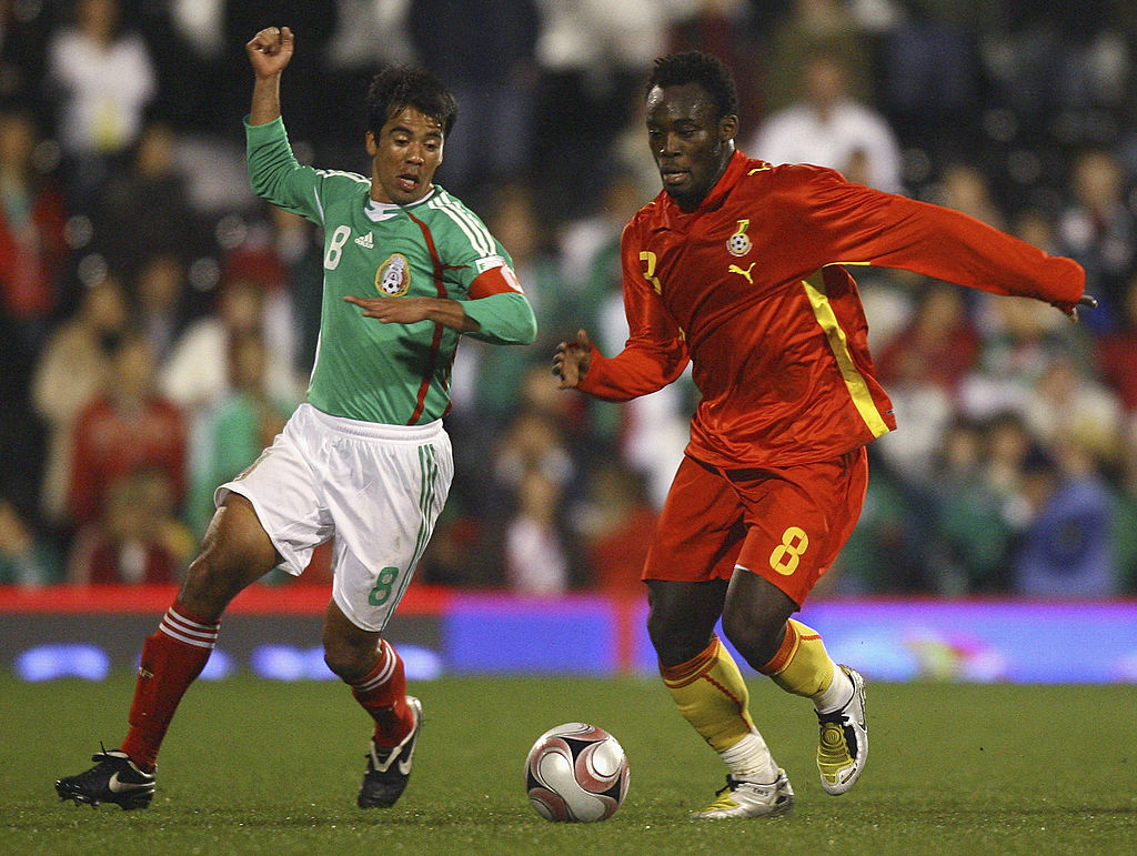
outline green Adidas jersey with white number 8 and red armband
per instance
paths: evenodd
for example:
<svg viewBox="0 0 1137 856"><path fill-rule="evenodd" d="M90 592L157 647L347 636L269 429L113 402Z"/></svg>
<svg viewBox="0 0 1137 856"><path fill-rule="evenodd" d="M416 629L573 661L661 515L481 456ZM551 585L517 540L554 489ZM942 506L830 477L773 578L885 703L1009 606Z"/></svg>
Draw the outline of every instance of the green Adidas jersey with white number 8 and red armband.
<svg viewBox="0 0 1137 856"><path fill-rule="evenodd" d="M307 394L314 407L390 425L422 424L449 409L460 334L430 321L365 318L343 300L347 294L460 300L480 324L471 335L504 344L533 341L537 323L512 259L445 190L435 186L408 206L384 205L371 198L363 175L301 166L279 118L246 122L246 136L254 192L324 228L319 340Z"/></svg>

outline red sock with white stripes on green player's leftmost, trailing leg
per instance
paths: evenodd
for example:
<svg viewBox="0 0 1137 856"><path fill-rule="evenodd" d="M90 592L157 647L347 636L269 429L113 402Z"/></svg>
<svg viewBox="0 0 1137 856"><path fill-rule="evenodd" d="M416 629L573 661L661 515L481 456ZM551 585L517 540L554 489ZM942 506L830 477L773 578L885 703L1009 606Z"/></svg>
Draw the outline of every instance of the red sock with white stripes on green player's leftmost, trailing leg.
<svg viewBox="0 0 1137 856"><path fill-rule="evenodd" d="M201 621L175 604L158 631L147 637L131 703L131 729L121 747L141 770L153 770L177 704L217 643L219 624Z"/></svg>

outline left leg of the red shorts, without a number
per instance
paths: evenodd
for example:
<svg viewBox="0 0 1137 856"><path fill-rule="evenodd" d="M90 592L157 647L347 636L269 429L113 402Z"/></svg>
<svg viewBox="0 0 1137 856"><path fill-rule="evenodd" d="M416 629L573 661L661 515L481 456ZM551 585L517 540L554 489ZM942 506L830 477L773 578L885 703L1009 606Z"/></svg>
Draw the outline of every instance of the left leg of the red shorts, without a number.
<svg viewBox="0 0 1137 856"><path fill-rule="evenodd" d="M684 457L659 513L644 579L730 580L745 537L744 508L729 480Z"/></svg>

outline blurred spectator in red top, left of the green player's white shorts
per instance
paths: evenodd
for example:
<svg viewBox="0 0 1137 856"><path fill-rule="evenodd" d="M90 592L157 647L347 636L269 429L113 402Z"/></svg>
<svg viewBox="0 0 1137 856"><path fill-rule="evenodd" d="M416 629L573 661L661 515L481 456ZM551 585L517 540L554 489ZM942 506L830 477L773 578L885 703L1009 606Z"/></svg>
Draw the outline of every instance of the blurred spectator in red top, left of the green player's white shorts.
<svg viewBox="0 0 1137 856"><path fill-rule="evenodd" d="M110 485L142 469L165 475L181 510L189 483L186 437L182 412L156 391L150 344L135 332L124 334L110 354L102 393L75 423L67 493L70 521L91 522Z"/></svg>

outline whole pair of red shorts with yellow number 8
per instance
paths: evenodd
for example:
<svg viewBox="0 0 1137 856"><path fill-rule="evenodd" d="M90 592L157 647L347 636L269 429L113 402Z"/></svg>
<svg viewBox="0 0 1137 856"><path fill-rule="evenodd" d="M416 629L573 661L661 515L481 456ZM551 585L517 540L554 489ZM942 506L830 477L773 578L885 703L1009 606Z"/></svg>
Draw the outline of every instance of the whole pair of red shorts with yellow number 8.
<svg viewBox="0 0 1137 856"><path fill-rule="evenodd" d="M722 471L684 457L644 566L645 580L729 580L741 567L800 606L837 558L869 487L864 448L833 460Z"/></svg>

